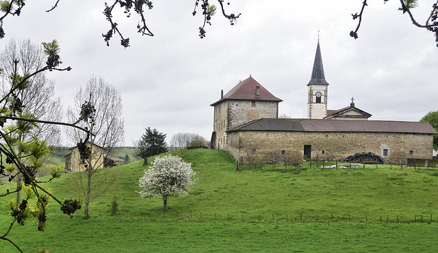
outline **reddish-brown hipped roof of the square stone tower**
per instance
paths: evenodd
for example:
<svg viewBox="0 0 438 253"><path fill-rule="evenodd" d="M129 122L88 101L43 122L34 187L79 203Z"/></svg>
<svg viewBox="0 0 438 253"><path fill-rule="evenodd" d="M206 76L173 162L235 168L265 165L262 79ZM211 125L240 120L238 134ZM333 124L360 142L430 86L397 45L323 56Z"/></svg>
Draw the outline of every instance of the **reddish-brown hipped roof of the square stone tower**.
<svg viewBox="0 0 438 253"><path fill-rule="evenodd" d="M257 87L259 87L259 92L256 92ZM227 94L220 98L211 106L214 106L222 101L226 100L250 100L250 101L274 101L281 102L280 98L272 95L266 88L264 88L260 83L255 81L253 77L248 77L244 81L240 81L234 86Z"/></svg>

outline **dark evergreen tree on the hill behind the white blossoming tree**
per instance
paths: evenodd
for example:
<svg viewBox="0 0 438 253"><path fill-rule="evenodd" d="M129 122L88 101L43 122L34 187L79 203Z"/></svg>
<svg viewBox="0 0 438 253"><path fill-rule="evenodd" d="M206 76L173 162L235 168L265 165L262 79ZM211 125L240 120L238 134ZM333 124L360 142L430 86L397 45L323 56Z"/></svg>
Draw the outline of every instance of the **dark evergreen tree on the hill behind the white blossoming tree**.
<svg viewBox="0 0 438 253"><path fill-rule="evenodd" d="M165 133L160 133L157 129L152 130L151 127L146 129L146 133L136 143L137 155L144 159L144 165L148 165L148 157L167 152L165 139Z"/></svg>

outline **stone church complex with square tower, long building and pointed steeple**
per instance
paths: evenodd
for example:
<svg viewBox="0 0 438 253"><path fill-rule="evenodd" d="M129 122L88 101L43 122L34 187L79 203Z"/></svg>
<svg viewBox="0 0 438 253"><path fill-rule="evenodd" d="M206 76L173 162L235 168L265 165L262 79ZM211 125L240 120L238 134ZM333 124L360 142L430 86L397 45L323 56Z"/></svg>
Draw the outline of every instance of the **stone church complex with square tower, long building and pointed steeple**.
<svg viewBox="0 0 438 253"><path fill-rule="evenodd" d="M369 120L371 114L350 106L327 109L329 83L324 76L320 43L307 84L307 118L279 118L281 99L253 77L240 81L211 106L211 148L227 150L236 160L248 153L299 154L306 159L344 160L373 152L385 162L432 159L433 134L427 122Z"/></svg>

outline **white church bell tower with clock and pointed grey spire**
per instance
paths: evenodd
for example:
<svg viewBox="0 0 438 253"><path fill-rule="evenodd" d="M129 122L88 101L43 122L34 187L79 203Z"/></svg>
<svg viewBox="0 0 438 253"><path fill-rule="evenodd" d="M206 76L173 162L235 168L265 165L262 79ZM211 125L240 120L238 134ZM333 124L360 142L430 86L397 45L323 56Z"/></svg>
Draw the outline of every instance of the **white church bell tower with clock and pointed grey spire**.
<svg viewBox="0 0 438 253"><path fill-rule="evenodd" d="M322 57L320 49L320 40L316 46L315 62L308 87L307 98L307 118L322 119L327 116L327 83L324 77L324 68L322 66Z"/></svg>

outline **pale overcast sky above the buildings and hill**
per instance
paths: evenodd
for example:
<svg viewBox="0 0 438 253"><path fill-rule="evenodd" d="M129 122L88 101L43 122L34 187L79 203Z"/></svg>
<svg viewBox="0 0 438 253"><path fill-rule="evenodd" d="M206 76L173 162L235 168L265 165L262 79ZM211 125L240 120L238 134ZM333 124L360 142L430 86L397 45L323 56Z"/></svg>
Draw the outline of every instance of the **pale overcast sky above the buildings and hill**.
<svg viewBox="0 0 438 253"><path fill-rule="evenodd" d="M102 34L105 1L27 1L21 16L8 16L5 38L60 44L62 67L47 73L66 110L90 77L103 77L123 100L125 146L133 146L145 128L166 133L213 131L213 107L220 90L227 93L250 75L283 100L279 114L307 118L307 83L318 38L326 81L328 109L350 105L372 114L370 120L419 121L438 110L438 48L434 34L412 25L396 0L368 1L357 40L350 37L362 0L229 0L228 13L242 13L235 25L216 14L198 37L203 16L192 16L194 0L155 0L145 12L153 37L136 32L138 17L114 13L129 48ZM210 0L211 4L216 1ZM227 3L227 1L225 1ZM424 23L435 1L422 0L413 10ZM201 13L201 9L198 13ZM320 36L318 37L318 31ZM66 138L64 145L68 146Z"/></svg>

